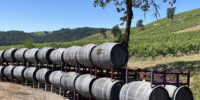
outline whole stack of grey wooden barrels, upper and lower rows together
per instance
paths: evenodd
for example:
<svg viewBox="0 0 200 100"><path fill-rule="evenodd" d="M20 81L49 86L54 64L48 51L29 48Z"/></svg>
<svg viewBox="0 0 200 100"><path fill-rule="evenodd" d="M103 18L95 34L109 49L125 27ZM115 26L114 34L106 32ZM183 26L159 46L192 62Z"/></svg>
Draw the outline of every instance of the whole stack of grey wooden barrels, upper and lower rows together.
<svg viewBox="0 0 200 100"><path fill-rule="evenodd" d="M6 80L26 80L51 84L84 98L95 100L193 100L186 86L154 86L147 81L125 83L110 77L80 74L63 66L78 65L104 70L123 68L128 62L128 51L121 44L107 42L100 45L74 45L68 48L52 47L11 48L0 50L0 77ZM17 63L16 63L17 62ZM54 67L49 67L50 65ZM59 66L59 68L57 68Z"/></svg>

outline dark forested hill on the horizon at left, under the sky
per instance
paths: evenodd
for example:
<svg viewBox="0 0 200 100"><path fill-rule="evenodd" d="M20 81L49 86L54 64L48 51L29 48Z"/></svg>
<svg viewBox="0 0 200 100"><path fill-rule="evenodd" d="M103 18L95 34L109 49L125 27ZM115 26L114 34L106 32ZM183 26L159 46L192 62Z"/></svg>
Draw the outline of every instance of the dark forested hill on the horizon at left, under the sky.
<svg viewBox="0 0 200 100"><path fill-rule="evenodd" d="M17 45L22 44L25 39L32 38L35 43L48 43L48 42L67 42L79 40L99 33L102 28L76 28L69 29L63 28L57 31L41 31L25 33L23 31L0 31L0 45Z"/></svg>

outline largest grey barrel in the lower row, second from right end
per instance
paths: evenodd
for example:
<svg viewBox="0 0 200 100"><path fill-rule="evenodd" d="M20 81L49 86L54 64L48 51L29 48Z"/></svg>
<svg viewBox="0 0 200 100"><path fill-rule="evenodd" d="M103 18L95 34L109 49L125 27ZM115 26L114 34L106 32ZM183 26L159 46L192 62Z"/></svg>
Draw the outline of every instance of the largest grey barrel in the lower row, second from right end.
<svg viewBox="0 0 200 100"><path fill-rule="evenodd" d="M169 100L169 94L164 87L151 87L151 83L145 81L125 84L119 97L120 100Z"/></svg>

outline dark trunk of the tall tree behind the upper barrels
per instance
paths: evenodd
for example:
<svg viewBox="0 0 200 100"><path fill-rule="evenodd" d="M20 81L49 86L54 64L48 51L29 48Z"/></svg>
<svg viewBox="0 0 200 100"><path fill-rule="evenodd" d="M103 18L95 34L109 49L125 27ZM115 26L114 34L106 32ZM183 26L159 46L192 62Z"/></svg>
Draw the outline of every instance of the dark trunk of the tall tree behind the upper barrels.
<svg viewBox="0 0 200 100"><path fill-rule="evenodd" d="M128 49L129 35L131 29L131 21L133 18L132 0L126 0L126 30L122 44Z"/></svg>

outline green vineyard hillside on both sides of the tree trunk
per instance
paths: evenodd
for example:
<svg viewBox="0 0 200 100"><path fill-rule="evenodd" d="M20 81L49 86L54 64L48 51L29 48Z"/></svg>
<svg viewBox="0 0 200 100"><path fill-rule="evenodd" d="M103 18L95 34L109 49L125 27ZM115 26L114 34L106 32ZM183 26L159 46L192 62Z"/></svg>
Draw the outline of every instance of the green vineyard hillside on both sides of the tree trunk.
<svg viewBox="0 0 200 100"><path fill-rule="evenodd" d="M156 56L166 56L168 54L177 56L180 54L198 53L200 50L199 25L200 9L195 9L176 14L173 22L171 19L163 18L145 25L144 30L134 27L131 29L129 54L130 56L135 57L154 58ZM50 35L52 34L53 33ZM115 40L110 34L110 31L107 32L107 35L108 38L106 39L103 39L101 34L95 34L77 41L51 41L51 43L36 44L36 47L41 48L43 46L52 46L58 48L68 47L71 45L84 45L87 43L100 44L106 41ZM62 35L59 37L62 37ZM0 48L6 49L10 47L13 46L1 46ZM23 45L17 45L14 47L23 47Z"/></svg>

